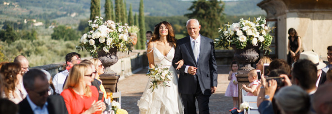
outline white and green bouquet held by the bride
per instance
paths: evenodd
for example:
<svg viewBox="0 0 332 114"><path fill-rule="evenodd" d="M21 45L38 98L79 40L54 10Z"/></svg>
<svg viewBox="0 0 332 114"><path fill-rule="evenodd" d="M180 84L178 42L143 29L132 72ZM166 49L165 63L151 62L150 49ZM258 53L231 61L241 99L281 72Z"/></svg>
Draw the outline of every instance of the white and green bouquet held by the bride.
<svg viewBox="0 0 332 114"><path fill-rule="evenodd" d="M158 65L155 65L155 68L149 69L150 73L146 74L150 79L150 88L153 90L158 89L158 85L162 84L162 86L168 86L168 81L172 80L171 71L169 71L168 67L158 68Z"/></svg>

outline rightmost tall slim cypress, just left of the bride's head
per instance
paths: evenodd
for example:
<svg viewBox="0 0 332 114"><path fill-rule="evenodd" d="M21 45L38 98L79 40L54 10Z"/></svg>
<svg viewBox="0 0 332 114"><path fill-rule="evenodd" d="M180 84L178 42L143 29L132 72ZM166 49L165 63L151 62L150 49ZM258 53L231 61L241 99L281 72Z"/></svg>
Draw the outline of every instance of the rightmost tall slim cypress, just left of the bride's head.
<svg viewBox="0 0 332 114"><path fill-rule="evenodd" d="M140 41L141 44L145 44L145 19L144 19L144 4L143 0L140 2L140 16L139 16L139 27L140 27ZM140 49L145 49L145 45L141 45Z"/></svg>

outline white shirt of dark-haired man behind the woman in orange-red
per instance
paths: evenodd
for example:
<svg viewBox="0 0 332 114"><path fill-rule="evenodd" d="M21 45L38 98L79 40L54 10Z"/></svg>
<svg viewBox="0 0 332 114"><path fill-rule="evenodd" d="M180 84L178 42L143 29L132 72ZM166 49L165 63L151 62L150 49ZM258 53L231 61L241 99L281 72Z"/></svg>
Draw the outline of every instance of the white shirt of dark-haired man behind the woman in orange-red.
<svg viewBox="0 0 332 114"><path fill-rule="evenodd" d="M55 93L61 94L63 91L64 80L66 80L68 74L68 70L64 70L54 76L52 83L54 85Z"/></svg>

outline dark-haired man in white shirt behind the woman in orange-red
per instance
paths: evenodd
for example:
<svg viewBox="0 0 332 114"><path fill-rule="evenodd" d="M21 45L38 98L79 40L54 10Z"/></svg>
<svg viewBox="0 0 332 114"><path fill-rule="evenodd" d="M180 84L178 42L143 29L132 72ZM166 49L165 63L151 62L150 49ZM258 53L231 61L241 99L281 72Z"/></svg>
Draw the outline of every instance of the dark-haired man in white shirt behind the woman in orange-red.
<svg viewBox="0 0 332 114"><path fill-rule="evenodd" d="M80 55L79 53L71 52L66 55L65 59L66 59L66 65L70 66L71 64L74 64L71 63L73 60L80 59ZM54 85L55 93L61 94L61 92L63 91L64 81L67 78L68 74L69 71L68 69L66 69L54 76L52 83Z"/></svg>

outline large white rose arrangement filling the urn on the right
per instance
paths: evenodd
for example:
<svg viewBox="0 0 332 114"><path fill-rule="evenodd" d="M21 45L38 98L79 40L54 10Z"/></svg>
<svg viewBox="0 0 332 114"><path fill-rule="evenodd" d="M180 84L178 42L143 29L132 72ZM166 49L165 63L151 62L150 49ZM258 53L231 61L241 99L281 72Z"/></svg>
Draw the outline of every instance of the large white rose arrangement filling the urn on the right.
<svg viewBox="0 0 332 114"><path fill-rule="evenodd" d="M254 18L253 21L240 19L240 22L226 27L219 28L220 37L215 39L216 47L235 46L237 49L244 49L248 45L259 46L259 49L270 52L269 48L272 36L269 32L274 29L266 26L265 17Z"/></svg>

